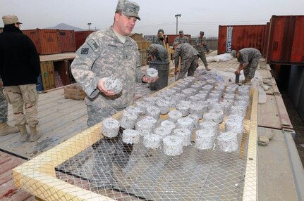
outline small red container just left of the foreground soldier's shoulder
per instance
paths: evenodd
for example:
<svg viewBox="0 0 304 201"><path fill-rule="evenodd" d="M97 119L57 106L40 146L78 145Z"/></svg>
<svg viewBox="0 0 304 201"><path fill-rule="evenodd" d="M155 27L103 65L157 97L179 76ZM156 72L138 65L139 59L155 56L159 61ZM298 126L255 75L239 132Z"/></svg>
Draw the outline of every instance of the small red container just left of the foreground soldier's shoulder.
<svg viewBox="0 0 304 201"><path fill-rule="evenodd" d="M61 53L75 52L75 32L73 30L57 30Z"/></svg>

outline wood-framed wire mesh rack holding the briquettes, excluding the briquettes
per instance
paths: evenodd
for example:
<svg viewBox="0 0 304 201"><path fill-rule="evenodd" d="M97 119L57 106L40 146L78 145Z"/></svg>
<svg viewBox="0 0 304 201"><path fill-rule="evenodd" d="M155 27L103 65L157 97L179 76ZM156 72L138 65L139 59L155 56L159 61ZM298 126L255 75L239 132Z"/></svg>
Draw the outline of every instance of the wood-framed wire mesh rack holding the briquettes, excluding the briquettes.
<svg viewBox="0 0 304 201"><path fill-rule="evenodd" d="M209 150L197 149L193 137L183 153L170 156L142 140L123 143L122 128L115 138L103 138L100 123L30 160L28 169L20 167L31 176L14 173L21 177L16 185L44 200L243 200L252 100L251 94L235 152L223 152L217 141ZM160 115L157 125L167 118Z"/></svg>

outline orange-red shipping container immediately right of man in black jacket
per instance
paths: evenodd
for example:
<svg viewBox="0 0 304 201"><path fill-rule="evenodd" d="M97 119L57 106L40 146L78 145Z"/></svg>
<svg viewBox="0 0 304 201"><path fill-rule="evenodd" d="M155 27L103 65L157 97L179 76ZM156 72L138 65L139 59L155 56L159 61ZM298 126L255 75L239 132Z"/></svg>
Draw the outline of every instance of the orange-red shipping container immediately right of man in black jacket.
<svg viewBox="0 0 304 201"><path fill-rule="evenodd" d="M36 46L40 55L60 53L59 38L57 30L23 30Z"/></svg>

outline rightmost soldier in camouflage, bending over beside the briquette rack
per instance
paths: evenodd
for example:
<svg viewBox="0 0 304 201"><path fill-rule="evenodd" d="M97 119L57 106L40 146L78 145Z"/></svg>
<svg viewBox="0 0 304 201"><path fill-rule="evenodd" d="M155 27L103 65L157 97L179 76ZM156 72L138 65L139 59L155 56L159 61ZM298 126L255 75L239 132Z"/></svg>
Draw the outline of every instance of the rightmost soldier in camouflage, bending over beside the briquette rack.
<svg viewBox="0 0 304 201"><path fill-rule="evenodd" d="M245 80L242 83L250 84L251 79L255 77L255 70L257 70L257 65L262 57L260 51L256 48L243 48L239 51L231 51L231 56L237 58L240 63L238 70L234 73L240 74L241 70L244 70Z"/></svg>

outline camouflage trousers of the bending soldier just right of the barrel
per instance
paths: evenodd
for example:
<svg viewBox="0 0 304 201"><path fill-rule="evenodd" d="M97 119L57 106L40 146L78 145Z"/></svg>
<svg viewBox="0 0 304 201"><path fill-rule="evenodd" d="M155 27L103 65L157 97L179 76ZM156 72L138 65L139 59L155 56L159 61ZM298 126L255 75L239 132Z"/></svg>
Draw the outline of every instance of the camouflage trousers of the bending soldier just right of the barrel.
<svg viewBox="0 0 304 201"><path fill-rule="evenodd" d="M178 73L177 79L183 79L188 72L188 76L193 76L196 70L198 56L193 56L181 60L181 70Z"/></svg>

